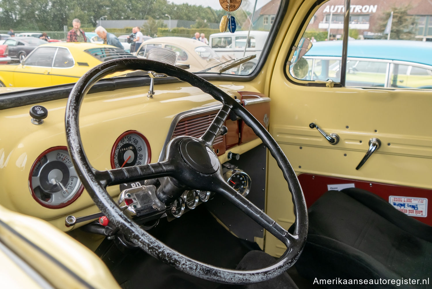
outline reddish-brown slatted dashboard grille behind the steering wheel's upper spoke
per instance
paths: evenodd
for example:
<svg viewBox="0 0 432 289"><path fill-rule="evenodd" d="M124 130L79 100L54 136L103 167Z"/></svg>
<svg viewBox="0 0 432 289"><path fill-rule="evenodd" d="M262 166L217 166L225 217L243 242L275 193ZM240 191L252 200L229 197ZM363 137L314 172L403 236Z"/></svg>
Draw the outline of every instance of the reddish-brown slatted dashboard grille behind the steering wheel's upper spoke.
<svg viewBox="0 0 432 289"><path fill-rule="evenodd" d="M216 113L180 120L175 126L171 138L173 139L178 136L202 137L215 117ZM223 136L216 137L213 146L222 142Z"/></svg>

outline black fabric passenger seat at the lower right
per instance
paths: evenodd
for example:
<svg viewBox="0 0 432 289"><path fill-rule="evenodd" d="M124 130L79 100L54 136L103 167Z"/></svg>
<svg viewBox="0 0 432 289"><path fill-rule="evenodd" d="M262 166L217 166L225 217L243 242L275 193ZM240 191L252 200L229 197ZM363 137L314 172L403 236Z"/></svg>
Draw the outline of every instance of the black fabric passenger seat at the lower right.
<svg viewBox="0 0 432 289"><path fill-rule="evenodd" d="M432 227L368 191L328 191L309 208L308 238L295 267L310 280L336 279L321 283L326 288L430 289L422 283L432 283ZM381 284L340 284L338 278ZM384 284L388 279L395 283Z"/></svg>

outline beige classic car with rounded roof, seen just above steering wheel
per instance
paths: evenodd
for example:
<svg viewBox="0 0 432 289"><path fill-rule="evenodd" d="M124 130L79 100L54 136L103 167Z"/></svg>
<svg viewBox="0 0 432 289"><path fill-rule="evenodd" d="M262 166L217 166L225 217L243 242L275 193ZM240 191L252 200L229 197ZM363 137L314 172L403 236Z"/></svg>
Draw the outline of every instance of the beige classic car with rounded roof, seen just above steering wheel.
<svg viewBox="0 0 432 289"><path fill-rule="evenodd" d="M137 52L137 57L147 58L153 48L167 48L177 54L177 64L189 64L191 72L197 72L217 66L220 57L203 42L184 37L158 37L144 41Z"/></svg>

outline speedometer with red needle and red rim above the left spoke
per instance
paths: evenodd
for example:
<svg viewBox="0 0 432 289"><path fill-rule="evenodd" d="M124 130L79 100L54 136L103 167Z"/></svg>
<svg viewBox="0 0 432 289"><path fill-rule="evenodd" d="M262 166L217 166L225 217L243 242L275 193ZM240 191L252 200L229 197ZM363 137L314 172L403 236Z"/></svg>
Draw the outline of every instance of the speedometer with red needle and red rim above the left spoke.
<svg viewBox="0 0 432 289"><path fill-rule="evenodd" d="M111 167L123 168L150 162L150 145L146 137L136 130L125 131L111 149Z"/></svg>

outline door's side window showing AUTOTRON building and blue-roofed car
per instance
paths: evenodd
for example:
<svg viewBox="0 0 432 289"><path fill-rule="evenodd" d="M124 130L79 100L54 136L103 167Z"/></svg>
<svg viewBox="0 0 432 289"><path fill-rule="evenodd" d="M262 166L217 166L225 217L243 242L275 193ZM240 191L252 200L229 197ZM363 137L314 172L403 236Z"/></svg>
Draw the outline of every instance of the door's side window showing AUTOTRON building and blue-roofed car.
<svg viewBox="0 0 432 289"><path fill-rule="evenodd" d="M339 86L432 89L432 58L424 57L432 49L427 41L432 29L426 32L432 16L410 14L420 9L418 4L351 2L349 35L344 35L343 4L327 1L310 16L287 59L287 75L304 81L330 79ZM345 37L347 60L342 63ZM342 71L346 74L341 78Z"/></svg>

